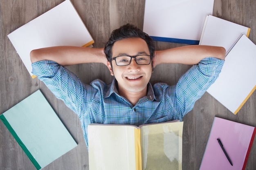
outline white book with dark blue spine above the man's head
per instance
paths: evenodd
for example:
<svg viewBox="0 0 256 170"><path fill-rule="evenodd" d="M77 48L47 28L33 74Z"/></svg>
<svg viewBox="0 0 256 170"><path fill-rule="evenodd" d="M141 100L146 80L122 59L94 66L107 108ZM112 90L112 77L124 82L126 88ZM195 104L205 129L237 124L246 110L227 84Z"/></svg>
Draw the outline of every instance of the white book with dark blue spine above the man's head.
<svg viewBox="0 0 256 170"><path fill-rule="evenodd" d="M214 0L146 0L143 31L153 40L198 44Z"/></svg>

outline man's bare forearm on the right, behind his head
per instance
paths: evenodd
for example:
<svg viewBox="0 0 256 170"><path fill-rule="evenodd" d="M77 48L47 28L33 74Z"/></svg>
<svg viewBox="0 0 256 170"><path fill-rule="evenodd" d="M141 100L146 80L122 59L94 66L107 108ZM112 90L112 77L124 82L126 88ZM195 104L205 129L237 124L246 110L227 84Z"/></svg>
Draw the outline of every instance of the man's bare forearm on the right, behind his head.
<svg viewBox="0 0 256 170"><path fill-rule="evenodd" d="M162 63L198 64L206 57L225 60L226 50L218 46L190 45L155 51L154 66Z"/></svg>

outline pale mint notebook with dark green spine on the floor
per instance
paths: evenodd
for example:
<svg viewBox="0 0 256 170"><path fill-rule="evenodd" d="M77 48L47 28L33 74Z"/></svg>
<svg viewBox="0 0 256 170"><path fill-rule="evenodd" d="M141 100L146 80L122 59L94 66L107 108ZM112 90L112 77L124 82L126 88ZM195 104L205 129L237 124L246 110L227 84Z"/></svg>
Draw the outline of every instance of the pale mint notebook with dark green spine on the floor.
<svg viewBox="0 0 256 170"><path fill-rule="evenodd" d="M40 90L0 119L38 170L77 146Z"/></svg>

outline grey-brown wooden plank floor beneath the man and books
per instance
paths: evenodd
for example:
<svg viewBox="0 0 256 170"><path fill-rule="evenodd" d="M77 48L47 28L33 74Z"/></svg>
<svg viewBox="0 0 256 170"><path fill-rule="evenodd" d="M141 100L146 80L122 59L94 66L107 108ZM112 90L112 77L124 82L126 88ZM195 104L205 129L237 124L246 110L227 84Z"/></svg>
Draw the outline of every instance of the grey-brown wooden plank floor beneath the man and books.
<svg viewBox="0 0 256 170"><path fill-rule="evenodd" d="M145 0L71 1L94 38L95 47L103 47L111 31L123 24L132 23L143 28ZM37 78L31 79L7 38L7 34L61 2L63 0L0 0L0 114L40 89L78 143L78 147L44 169L88 170L88 152L78 117L62 101L57 100L42 82ZM215 0L213 15L250 27L249 38L256 43L256 0ZM156 42L158 50L183 45ZM157 66L151 82L175 84L189 67L182 64ZM96 78L107 83L112 80L103 64L80 64L69 68L87 84ZM256 92L237 115L232 114L208 93L196 102L194 109L184 117L183 170L199 169L214 116L256 126ZM0 170L35 169L0 121ZM256 140L246 166L246 170L253 169L256 169Z"/></svg>

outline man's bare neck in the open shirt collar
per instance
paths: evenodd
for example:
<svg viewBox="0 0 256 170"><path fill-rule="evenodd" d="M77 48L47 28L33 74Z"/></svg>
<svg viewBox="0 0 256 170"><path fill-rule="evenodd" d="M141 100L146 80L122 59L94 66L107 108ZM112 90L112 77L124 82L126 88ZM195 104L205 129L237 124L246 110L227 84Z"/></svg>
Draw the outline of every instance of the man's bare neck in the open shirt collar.
<svg viewBox="0 0 256 170"><path fill-rule="evenodd" d="M139 91L139 92L130 92L130 91L119 89L119 95L128 99L129 102L132 104L132 106L135 106L135 104L139 101L139 99L141 97L146 96L146 94L147 94L147 88L144 88L143 91Z"/></svg>

